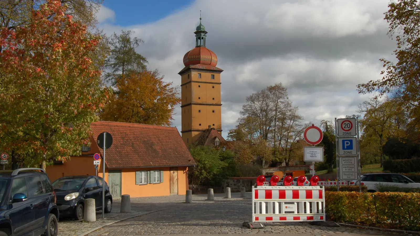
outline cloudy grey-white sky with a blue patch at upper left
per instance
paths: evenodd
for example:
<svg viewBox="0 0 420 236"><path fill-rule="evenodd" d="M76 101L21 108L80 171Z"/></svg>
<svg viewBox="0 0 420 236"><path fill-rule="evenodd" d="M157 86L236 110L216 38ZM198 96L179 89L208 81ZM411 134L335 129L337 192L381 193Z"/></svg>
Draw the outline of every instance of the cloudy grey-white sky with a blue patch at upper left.
<svg viewBox="0 0 420 236"><path fill-rule="evenodd" d="M381 78L380 58L392 59L387 0L105 0L98 13L107 34L134 30L138 52L179 86L184 54L202 24L218 56L222 128L234 128L245 97L281 82L305 121L318 124L355 114L371 94L357 84ZM173 126L181 128L180 108Z"/></svg>

